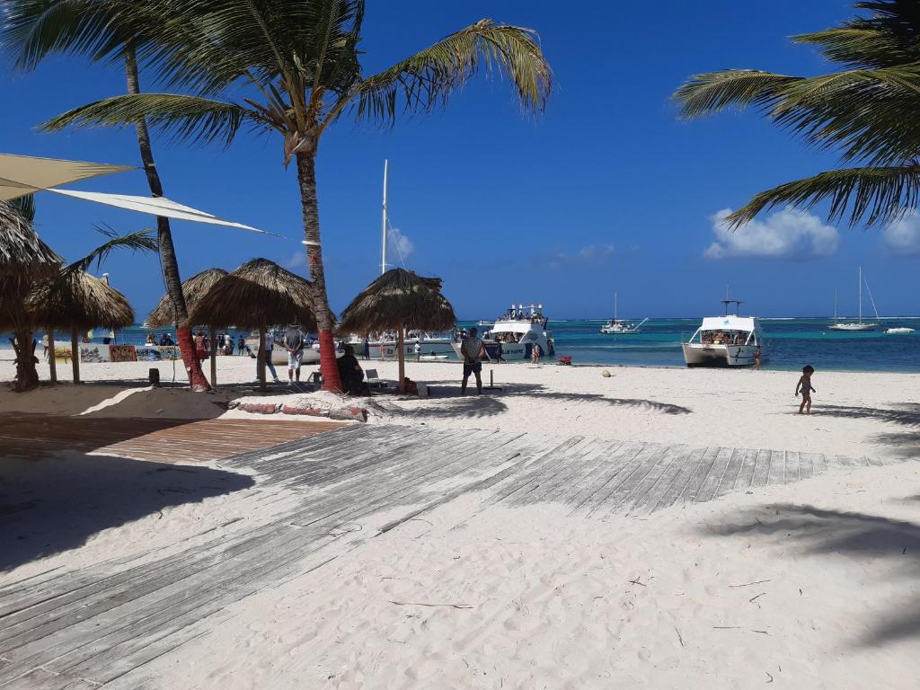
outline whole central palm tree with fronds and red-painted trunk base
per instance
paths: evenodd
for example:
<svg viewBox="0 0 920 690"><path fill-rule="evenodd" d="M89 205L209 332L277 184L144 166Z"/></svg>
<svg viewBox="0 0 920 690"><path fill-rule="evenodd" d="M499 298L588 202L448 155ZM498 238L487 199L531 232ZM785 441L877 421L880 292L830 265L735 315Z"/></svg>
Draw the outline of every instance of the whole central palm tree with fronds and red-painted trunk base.
<svg viewBox="0 0 920 690"><path fill-rule="evenodd" d="M316 155L349 113L385 126L447 104L480 68L508 75L523 109L546 107L551 72L535 32L484 19L374 75L358 49L363 0L158 0L163 29L147 59L184 94L106 98L45 123L115 125L146 118L178 139L229 144L246 122L282 135L296 162L323 384L340 389L319 232ZM235 98L228 98L228 95Z"/></svg>

